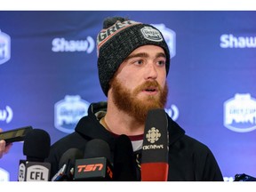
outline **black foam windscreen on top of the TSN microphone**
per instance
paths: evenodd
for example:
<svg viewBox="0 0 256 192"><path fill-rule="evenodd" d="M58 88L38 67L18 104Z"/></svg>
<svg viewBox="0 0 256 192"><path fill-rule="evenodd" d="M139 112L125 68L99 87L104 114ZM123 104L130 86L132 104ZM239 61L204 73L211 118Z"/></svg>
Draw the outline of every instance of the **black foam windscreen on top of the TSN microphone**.
<svg viewBox="0 0 256 192"><path fill-rule="evenodd" d="M110 160L110 148L105 140L89 140L84 148L84 158L106 157Z"/></svg>

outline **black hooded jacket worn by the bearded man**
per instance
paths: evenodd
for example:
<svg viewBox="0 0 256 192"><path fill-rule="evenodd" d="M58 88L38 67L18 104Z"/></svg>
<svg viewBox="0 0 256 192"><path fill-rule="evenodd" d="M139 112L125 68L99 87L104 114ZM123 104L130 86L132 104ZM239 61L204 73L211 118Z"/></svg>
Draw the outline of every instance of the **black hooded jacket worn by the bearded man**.
<svg viewBox="0 0 256 192"><path fill-rule="evenodd" d="M51 163L52 176L59 170L59 161L68 148L84 151L86 142L100 139L108 142L111 152L114 151L115 137L108 132L94 115L106 111L107 103L92 103L88 116L80 119L75 132L58 140L52 145L46 162ZM169 172L170 181L222 181L223 177L211 150L203 143L189 137L180 126L168 116L169 129ZM140 151L139 151L140 153ZM51 178L52 178L51 176Z"/></svg>

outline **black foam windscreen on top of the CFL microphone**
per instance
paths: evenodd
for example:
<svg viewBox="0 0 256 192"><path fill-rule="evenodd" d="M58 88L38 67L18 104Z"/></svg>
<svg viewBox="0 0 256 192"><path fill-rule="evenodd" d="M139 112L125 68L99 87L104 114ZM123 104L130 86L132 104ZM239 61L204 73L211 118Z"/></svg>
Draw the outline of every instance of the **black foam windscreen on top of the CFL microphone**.
<svg viewBox="0 0 256 192"><path fill-rule="evenodd" d="M42 129L33 129L25 136L23 154L28 161L44 162L49 156L51 138L48 132Z"/></svg>

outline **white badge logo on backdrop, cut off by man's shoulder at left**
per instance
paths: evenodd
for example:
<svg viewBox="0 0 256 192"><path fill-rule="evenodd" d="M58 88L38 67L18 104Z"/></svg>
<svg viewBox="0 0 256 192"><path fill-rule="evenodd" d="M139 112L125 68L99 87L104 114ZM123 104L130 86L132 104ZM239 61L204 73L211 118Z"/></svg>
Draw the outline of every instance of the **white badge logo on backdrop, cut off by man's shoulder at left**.
<svg viewBox="0 0 256 192"><path fill-rule="evenodd" d="M87 116L90 103L79 95L66 95L54 106L54 125L61 132L71 133L80 118Z"/></svg>

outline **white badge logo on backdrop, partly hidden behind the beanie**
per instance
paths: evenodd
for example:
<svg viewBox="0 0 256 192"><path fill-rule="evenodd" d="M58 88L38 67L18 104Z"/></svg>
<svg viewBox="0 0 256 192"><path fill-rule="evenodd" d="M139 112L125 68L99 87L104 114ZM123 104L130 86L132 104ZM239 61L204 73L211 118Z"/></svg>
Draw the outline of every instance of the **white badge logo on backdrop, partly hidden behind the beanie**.
<svg viewBox="0 0 256 192"><path fill-rule="evenodd" d="M164 23L152 24L155 28L161 31L164 36L164 40L169 47L170 57L173 58L176 55L176 33L170 29L166 28Z"/></svg>

